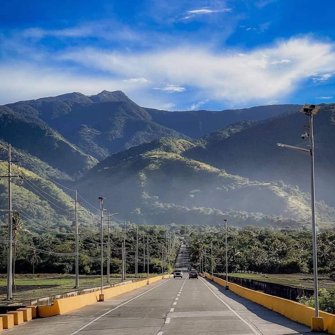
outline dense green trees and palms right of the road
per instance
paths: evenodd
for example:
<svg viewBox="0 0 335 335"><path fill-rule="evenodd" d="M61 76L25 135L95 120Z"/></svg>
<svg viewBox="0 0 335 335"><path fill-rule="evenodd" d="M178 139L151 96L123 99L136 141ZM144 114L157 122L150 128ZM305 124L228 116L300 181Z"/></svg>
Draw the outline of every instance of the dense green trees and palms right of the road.
<svg viewBox="0 0 335 335"><path fill-rule="evenodd" d="M223 227L190 229L191 259L194 265L200 256L207 255L210 264L213 244L214 272L225 272ZM260 228L246 226L228 227L228 272L239 270L263 273L311 273L313 271L312 233L306 227L292 229ZM319 273L335 271L335 231L323 230L318 234ZM207 267L209 269L209 267Z"/></svg>

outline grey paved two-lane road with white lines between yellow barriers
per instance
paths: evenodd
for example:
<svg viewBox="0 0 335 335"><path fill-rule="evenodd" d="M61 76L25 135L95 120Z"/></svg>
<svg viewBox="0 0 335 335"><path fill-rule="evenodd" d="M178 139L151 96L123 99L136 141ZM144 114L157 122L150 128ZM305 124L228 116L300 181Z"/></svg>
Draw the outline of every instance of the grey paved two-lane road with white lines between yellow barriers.
<svg viewBox="0 0 335 335"><path fill-rule="evenodd" d="M16 326L8 335L313 334L203 278L165 279L73 311Z"/></svg>

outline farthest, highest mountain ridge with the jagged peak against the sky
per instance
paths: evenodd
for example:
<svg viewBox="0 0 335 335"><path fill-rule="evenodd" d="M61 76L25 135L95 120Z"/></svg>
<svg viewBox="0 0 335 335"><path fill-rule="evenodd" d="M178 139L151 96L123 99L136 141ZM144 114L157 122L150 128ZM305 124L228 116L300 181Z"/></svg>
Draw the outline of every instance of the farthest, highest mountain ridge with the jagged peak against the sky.
<svg viewBox="0 0 335 335"><path fill-rule="evenodd" d="M198 138L242 120L262 120L295 105L242 110L168 112L142 108L122 91L78 92L8 104L26 120L47 124L98 160L159 137Z"/></svg>

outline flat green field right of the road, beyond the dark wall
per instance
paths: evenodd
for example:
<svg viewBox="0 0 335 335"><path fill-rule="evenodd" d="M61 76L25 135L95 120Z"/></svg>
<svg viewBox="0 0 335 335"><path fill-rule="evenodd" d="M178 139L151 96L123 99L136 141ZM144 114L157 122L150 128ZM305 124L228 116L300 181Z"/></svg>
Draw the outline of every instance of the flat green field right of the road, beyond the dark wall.
<svg viewBox="0 0 335 335"><path fill-rule="evenodd" d="M312 275L231 273L229 276L249 278L295 287L314 288ZM320 275L318 276L318 283L319 288L335 289L335 280L330 277Z"/></svg>

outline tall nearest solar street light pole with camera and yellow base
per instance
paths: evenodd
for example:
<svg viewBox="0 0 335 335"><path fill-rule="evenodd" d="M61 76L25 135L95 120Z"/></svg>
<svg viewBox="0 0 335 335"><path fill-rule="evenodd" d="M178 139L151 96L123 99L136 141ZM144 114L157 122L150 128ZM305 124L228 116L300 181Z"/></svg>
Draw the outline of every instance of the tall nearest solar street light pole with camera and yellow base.
<svg viewBox="0 0 335 335"><path fill-rule="evenodd" d="M301 135L301 138L309 138L310 148L305 149L293 145L287 145L283 143L277 143L278 146L296 149L299 151L307 152L311 157L311 207L312 207L312 243L313 243L313 272L314 272L314 296L315 296L315 317L312 317L312 331L323 331L323 318L319 317L319 296L318 296L318 261L317 261L317 250L316 250L316 222L315 222L315 190L314 190L314 136L313 136L313 116L315 116L321 106L312 104L305 104L300 110L300 113L305 114L309 117L309 126L304 126L305 133Z"/></svg>

